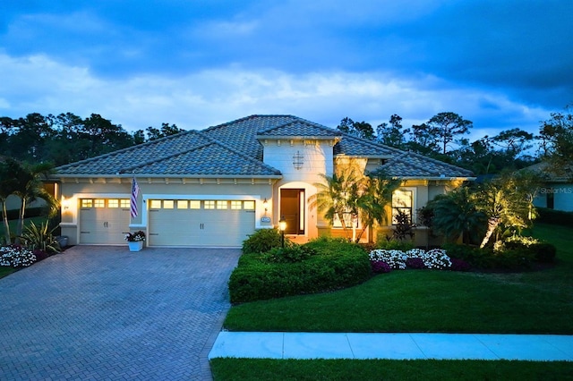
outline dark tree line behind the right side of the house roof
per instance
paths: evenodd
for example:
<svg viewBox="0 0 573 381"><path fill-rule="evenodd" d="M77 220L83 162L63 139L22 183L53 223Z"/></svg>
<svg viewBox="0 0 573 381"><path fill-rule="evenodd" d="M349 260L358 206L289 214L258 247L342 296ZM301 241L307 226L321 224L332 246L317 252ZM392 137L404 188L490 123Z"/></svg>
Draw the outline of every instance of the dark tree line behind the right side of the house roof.
<svg viewBox="0 0 573 381"><path fill-rule="evenodd" d="M573 161L570 107L563 113L551 114L549 120L541 123L538 135L514 128L475 141L465 137L473 123L452 112L436 114L427 122L409 128L402 125L402 120L398 114L392 114L388 123L381 123L374 131L372 124L346 117L337 129L458 165L474 174L500 174L541 160L552 161L552 166L562 168Z"/></svg>

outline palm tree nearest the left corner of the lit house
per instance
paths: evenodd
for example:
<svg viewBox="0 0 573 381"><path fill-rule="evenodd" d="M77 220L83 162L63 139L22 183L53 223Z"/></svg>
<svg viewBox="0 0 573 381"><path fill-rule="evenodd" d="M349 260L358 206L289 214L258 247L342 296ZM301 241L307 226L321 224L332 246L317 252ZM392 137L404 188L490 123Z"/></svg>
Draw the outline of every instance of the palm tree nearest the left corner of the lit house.
<svg viewBox="0 0 573 381"><path fill-rule="evenodd" d="M53 170L53 165L42 163L38 165L22 165L16 162L13 166L13 189L12 194L20 198L20 213L18 224L16 225L16 243L24 228L24 216L27 205L36 199L43 199L47 203L49 210L48 216L55 216L57 213L58 202L54 197L44 189L41 181L46 178Z"/></svg>

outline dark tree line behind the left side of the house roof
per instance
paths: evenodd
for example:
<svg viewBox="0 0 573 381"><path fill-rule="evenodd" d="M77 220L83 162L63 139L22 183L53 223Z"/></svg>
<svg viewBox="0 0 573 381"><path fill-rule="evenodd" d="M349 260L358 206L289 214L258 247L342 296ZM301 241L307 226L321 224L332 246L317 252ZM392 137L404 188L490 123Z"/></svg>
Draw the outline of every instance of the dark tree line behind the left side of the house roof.
<svg viewBox="0 0 573 381"><path fill-rule="evenodd" d="M64 165L132 147L184 131L175 124L125 131L99 114L81 118L72 113L33 113L21 118L0 117L0 152L26 163Z"/></svg>

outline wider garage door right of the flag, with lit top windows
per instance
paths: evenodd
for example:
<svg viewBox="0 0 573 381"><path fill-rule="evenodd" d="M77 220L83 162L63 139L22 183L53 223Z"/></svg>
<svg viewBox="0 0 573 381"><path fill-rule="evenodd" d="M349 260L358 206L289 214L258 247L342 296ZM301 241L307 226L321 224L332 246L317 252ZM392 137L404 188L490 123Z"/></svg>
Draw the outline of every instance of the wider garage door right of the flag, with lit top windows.
<svg viewBox="0 0 573 381"><path fill-rule="evenodd" d="M151 199L149 246L241 246L254 232L254 201Z"/></svg>

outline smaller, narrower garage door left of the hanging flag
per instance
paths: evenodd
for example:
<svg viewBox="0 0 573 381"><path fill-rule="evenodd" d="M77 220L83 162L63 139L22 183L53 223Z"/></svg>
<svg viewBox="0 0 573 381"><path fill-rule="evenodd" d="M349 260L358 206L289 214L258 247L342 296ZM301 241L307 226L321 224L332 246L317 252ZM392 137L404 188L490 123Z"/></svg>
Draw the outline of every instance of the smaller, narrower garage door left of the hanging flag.
<svg viewBox="0 0 573 381"><path fill-rule="evenodd" d="M129 232L129 199L81 199L80 243L125 244Z"/></svg>

